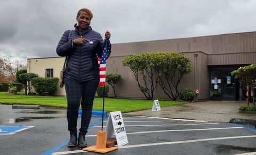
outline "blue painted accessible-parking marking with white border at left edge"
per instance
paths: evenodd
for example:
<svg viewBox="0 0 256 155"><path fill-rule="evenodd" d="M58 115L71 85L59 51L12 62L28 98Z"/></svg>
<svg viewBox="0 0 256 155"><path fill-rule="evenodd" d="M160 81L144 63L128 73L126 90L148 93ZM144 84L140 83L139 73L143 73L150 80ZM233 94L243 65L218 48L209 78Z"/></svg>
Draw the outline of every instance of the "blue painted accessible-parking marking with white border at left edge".
<svg viewBox="0 0 256 155"><path fill-rule="evenodd" d="M0 135L12 135L34 126L0 126Z"/></svg>

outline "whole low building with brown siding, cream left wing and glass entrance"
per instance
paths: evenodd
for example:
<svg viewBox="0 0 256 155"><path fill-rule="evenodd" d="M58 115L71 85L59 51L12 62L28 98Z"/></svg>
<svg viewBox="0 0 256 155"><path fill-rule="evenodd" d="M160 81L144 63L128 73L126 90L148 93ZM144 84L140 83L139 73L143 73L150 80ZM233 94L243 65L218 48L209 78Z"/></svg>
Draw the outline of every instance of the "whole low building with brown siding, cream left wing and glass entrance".
<svg viewBox="0 0 256 155"><path fill-rule="evenodd" d="M119 43L112 45L107 61L107 73L122 76L116 85L117 97L145 99L140 92L132 71L123 67L124 56L143 52L178 52L191 60L194 70L182 78L179 89L198 89L199 100L244 100L245 90L230 72L251 63L256 63L256 32L242 32L202 37L153 40L147 42ZM28 59L27 70L39 77L59 77L65 58ZM65 95L64 88L58 88L56 95ZM155 96L167 99L160 86ZM110 88L109 96L114 96Z"/></svg>

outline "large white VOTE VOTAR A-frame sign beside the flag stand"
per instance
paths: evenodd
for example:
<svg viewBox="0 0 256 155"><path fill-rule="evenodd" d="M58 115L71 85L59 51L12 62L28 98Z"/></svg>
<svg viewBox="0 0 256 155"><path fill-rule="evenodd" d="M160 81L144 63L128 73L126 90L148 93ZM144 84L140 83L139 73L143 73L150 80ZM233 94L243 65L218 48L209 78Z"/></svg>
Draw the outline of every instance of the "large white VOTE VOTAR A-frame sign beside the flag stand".
<svg viewBox="0 0 256 155"><path fill-rule="evenodd" d="M128 142L121 111L110 112L107 125L107 140L115 133L117 146L123 146Z"/></svg>

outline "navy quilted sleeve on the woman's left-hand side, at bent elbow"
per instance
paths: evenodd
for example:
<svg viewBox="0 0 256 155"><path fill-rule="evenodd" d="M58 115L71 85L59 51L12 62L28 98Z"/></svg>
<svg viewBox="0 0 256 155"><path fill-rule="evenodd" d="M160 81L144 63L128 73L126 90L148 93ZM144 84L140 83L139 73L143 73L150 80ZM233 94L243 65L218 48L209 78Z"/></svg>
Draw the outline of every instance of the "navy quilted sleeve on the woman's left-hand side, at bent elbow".
<svg viewBox="0 0 256 155"><path fill-rule="evenodd" d="M60 56L67 56L72 51L72 39L68 40L69 31L64 32L56 48L56 52Z"/></svg>

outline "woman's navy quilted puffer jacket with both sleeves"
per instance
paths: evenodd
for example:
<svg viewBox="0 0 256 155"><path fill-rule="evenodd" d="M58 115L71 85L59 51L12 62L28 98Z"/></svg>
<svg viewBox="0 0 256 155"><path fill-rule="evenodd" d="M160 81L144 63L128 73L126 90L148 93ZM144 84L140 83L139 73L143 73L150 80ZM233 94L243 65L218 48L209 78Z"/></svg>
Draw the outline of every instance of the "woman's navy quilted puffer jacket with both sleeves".
<svg viewBox="0 0 256 155"><path fill-rule="evenodd" d="M83 82L99 78L99 65L97 56L101 56L105 42L101 35L92 30L91 27L84 29L82 35L78 29L67 30L62 35L57 46L57 54L60 56L68 56L67 66L65 69L65 78ZM72 40L83 37L90 40L84 45L72 46ZM110 44L110 43L109 43ZM111 47L111 45L110 45Z"/></svg>

